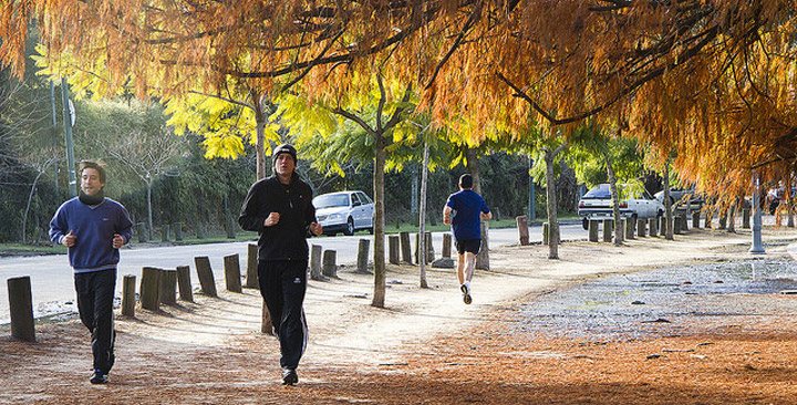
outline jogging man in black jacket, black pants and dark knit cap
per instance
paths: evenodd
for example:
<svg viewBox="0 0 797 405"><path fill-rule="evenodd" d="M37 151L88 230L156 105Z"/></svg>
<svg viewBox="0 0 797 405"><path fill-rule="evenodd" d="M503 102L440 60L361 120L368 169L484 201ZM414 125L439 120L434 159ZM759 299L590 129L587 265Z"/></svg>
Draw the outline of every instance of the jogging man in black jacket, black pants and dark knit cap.
<svg viewBox="0 0 797 405"><path fill-rule="evenodd" d="M321 235L312 190L296 174L297 153L283 144L273 150L275 175L255 183L238 224L258 231L258 280L280 341L282 383L299 381L296 368L307 346L302 303L307 290L307 237Z"/></svg>

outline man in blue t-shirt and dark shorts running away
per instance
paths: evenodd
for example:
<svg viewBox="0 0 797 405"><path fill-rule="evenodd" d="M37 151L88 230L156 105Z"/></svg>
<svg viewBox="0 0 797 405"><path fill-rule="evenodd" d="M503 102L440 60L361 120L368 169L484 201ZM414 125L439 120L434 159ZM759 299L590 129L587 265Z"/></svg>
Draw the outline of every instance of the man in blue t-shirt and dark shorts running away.
<svg viewBox="0 0 797 405"><path fill-rule="evenodd" d="M459 177L459 191L448 196L443 209L443 222L452 226L454 242L459 253L457 278L463 301L469 304L470 279L476 268L476 255L482 248L482 219L493 218L484 198L473 189L473 176Z"/></svg>

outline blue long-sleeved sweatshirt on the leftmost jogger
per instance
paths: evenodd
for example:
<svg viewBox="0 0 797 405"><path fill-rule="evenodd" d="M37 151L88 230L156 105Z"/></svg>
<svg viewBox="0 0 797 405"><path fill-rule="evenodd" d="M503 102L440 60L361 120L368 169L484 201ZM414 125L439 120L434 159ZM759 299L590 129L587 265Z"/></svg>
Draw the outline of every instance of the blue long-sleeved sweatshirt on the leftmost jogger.
<svg viewBox="0 0 797 405"><path fill-rule="evenodd" d="M90 206L77 197L64 202L50 221L50 240L61 239L72 231L75 245L69 248L70 264L75 273L115 269L120 260L118 249L113 248L114 233L131 239L133 222L127 210L118 202L105 198Z"/></svg>

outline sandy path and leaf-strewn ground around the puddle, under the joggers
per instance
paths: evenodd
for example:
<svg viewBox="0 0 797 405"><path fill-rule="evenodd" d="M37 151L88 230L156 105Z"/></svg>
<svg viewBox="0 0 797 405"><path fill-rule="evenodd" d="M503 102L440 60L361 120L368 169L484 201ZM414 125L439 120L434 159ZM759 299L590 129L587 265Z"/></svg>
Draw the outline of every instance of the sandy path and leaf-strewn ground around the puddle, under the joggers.
<svg viewBox="0 0 797 405"><path fill-rule="evenodd" d="M797 231L764 237L767 258L788 258ZM689 333L642 340L517 328L518 309L551 292L609 273L748 259L749 240L746 230L692 230L622 247L567 242L560 260L542 246L494 249L491 270L473 281L472 305L452 269L428 269L429 288L421 289L418 267L389 266L384 309L370 305L372 276L341 269L339 279L309 284L310 342L292 387L280 384L278 342L259 332L257 290L117 316L117 362L105 386L87 382L90 336L79 322L39 325L33 344L0 338L0 403L794 403L797 325L783 313L731 326L693 322L683 325ZM791 297L777 299L793 304Z"/></svg>

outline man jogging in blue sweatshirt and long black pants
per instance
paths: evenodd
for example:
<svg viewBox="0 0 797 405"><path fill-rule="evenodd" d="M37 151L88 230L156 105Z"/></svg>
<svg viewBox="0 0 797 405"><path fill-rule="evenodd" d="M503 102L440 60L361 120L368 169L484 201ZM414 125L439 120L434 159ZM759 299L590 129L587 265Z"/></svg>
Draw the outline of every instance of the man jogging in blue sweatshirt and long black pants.
<svg viewBox="0 0 797 405"><path fill-rule="evenodd" d="M50 221L50 240L69 250L77 292L77 312L92 333L92 384L107 383L114 364L113 299L118 249L131 239L127 210L105 198L105 169L81 162L80 195L59 207Z"/></svg>

